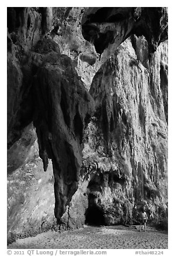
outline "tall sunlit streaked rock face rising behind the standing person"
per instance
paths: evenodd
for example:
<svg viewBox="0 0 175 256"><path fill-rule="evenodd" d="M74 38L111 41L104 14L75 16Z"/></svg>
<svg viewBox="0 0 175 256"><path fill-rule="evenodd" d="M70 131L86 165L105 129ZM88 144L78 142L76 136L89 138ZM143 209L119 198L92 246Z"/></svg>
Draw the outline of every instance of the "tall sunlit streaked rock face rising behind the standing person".
<svg viewBox="0 0 175 256"><path fill-rule="evenodd" d="M89 218L94 218L96 207L104 224L130 222L134 205L144 204L156 218L166 215L166 96L161 89L161 50L166 43L145 61L147 41L134 39L135 49L132 40L126 40L99 69L90 88L96 113L86 130L83 155L89 165L97 163L97 172L88 185L93 201Z"/></svg>

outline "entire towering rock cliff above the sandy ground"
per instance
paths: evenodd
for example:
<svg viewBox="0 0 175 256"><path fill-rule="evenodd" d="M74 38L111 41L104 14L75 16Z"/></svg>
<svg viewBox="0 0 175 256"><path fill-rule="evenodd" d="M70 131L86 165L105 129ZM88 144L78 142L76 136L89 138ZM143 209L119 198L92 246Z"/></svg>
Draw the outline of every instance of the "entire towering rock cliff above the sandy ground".
<svg viewBox="0 0 175 256"><path fill-rule="evenodd" d="M166 39L166 8L8 8L9 237L166 217Z"/></svg>

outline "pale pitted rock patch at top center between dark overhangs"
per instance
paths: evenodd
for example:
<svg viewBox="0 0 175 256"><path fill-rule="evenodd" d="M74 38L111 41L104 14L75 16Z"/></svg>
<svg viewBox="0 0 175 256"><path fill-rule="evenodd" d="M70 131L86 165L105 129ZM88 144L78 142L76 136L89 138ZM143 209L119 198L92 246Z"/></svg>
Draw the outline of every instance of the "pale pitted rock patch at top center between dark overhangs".
<svg viewBox="0 0 175 256"><path fill-rule="evenodd" d="M82 35L82 16L88 8L53 8L53 30L51 37L59 44L60 52L74 62L86 88L90 88L94 74L101 65L94 45Z"/></svg>

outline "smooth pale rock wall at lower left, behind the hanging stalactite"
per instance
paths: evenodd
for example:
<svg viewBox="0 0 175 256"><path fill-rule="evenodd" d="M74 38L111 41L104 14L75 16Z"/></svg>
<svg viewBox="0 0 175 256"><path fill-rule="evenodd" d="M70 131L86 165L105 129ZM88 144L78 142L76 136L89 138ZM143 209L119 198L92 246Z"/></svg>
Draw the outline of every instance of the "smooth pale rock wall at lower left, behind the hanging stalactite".
<svg viewBox="0 0 175 256"><path fill-rule="evenodd" d="M52 162L43 172L35 155L8 175L8 242L34 236L56 224Z"/></svg>

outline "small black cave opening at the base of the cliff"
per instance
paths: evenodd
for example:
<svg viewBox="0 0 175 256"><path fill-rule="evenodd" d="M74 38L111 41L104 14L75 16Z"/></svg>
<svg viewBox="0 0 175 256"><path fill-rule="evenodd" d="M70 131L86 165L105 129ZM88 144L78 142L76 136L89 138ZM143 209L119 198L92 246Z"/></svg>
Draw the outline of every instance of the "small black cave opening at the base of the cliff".
<svg viewBox="0 0 175 256"><path fill-rule="evenodd" d="M100 209L93 194L89 195L89 207L85 212L85 224L87 225L105 225L104 211Z"/></svg>

